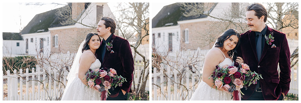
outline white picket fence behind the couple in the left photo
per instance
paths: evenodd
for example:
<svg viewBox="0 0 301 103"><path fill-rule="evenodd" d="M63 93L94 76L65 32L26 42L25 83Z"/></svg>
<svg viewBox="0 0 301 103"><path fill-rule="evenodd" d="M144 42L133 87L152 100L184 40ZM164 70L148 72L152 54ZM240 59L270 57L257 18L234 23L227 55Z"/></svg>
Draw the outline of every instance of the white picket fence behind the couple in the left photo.
<svg viewBox="0 0 301 103"><path fill-rule="evenodd" d="M20 69L19 73L17 73L17 70L14 70L14 73L10 74L10 70L8 70L7 75L3 76L3 81L7 84L7 89L5 88L7 97L4 97L3 100L61 100L65 89L64 86L67 86L66 77L68 73L64 72L62 74L64 76L59 79L57 70L51 69L51 67L48 70L37 68L32 68L32 73L28 72L28 68L26 73L22 73L22 69ZM138 83L142 68L143 64L135 64L134 77L136 83ZM64 71L66 71L66 68L64 68ZM26 90L22 88L23 83L26 83ZM2 86L3 90L5 90L4 85ZM133 85L137 86L137 84ZM29 92L29 86L31 86L31 92ZM35 86L37 86L37 91ZM26 91L26 93L23 93L23 91ZM145 91L149 91L149 81L147 81Z"/></svg>

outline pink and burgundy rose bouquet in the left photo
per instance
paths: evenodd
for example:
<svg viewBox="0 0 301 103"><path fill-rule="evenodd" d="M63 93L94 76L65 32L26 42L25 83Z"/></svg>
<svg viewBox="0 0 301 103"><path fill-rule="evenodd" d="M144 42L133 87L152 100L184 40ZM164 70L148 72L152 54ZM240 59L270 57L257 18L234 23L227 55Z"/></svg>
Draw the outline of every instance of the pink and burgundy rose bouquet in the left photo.
<svg viewBox="0 0 301 103"><path fill-rule="evenodd" d="M122 86L122 83L126 81L126 78L121 75L118 76L116 70L110 68L101 68L101 69L89 69L86 73L86 78L88 81L88 88L92 88L97 92L101 93L101 100L106 100L108 89L116 88L117 86ZM127 81L126 81L127 82Z"/></svg>

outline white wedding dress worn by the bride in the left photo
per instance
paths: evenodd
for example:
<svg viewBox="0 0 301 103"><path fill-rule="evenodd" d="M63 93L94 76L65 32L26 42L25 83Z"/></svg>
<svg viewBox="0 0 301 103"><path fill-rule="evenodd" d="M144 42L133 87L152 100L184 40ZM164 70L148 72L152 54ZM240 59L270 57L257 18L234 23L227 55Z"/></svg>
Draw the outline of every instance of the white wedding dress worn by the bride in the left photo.
<svg viewBox="0 0 301 103"><path fill-rule="evenodd" d="M95 59L95 62L90 66L92 70L101 67L100 61L96 57ZM96 92L92 88L88 89L87 87L85 87L82 81L76 76L73 81L68 81L61 100L101 100L101 97L99 92Z"/></svg>

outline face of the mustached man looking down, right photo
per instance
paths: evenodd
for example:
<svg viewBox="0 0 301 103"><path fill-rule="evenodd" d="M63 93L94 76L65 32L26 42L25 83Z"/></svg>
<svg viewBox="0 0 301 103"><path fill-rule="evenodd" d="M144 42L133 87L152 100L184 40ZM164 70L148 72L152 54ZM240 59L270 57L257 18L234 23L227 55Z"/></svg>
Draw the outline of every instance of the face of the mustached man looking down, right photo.
<svg viewBox="0 0 301 103"><path fill-rule="evenodd" d="M257 31L257 32L261 32L262 25L265 25L264 23L264 16L260 17L258 19L258 17L255 15L255 11L251 10L251 11L247 11L246 13L246 20L247 20L247 25L248 27L250 27L251 31Z"/></svg>

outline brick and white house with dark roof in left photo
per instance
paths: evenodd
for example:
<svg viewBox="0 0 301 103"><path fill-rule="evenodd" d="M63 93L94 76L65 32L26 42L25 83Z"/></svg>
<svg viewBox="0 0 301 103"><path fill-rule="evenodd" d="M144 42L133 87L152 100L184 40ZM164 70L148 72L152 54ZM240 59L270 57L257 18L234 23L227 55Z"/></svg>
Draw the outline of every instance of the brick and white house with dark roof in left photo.
<svg viewBox="0 0 301 103"><path fill-rule="evenodd" d="M61 22L66 20L60 19L62 17L55 14L59 9L69 10L72 13L66 13L65 16L72 16L73 20L81 20L84 25L95 27L102 16L114 18L107 3L69 3L62 8L36 14L20 32L25 41L24 54L76 53L85 36L90 32L96 32L95 29L79 23L62 25Z"/></svg>

